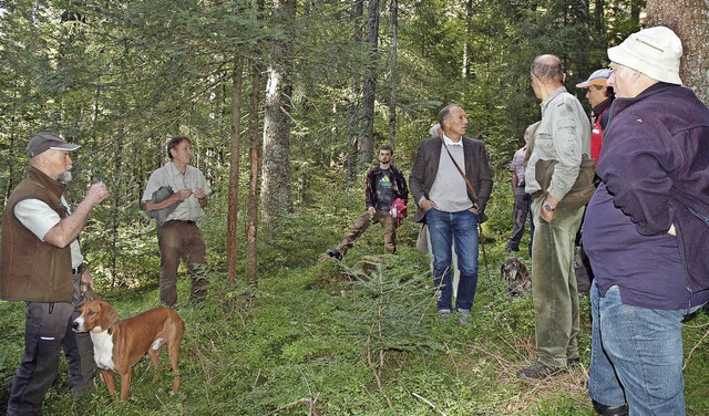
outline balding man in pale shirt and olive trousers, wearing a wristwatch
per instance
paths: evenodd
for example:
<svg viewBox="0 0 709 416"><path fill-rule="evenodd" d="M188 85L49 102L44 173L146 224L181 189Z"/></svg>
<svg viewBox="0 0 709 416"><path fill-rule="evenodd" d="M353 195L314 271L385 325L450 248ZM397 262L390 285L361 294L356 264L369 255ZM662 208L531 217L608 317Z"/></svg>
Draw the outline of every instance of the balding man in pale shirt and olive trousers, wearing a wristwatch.
<svg viewBox="0 0 709 416"><path fill-rule="evenodd" d="M542 122L525 170L525 190L534 198L532 293L537 362L517 372L517 377L543 379L578 362L573 259L584 205L594 191L593 159L588 158L590 124L578 100L564 87L566 74L558 56L535 58L531 76L534 94L542 100Z"/></svg>

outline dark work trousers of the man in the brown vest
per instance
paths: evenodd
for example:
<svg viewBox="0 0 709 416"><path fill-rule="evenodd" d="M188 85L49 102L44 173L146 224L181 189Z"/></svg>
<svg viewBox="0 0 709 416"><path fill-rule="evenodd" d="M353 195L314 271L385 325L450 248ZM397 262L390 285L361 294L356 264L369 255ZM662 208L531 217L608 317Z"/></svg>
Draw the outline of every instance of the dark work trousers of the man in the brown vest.
<svg viewBox="0 0 709 416"><path fill-rule="evenodd" d="M95 364L91 335L74 333L71 324L84 301L74 274L73 302L28 302L24 319L24 355L12 381L8 415L35 415L59 372L64 350L69 366L69 388L76 397L94 389Z"/></svg>

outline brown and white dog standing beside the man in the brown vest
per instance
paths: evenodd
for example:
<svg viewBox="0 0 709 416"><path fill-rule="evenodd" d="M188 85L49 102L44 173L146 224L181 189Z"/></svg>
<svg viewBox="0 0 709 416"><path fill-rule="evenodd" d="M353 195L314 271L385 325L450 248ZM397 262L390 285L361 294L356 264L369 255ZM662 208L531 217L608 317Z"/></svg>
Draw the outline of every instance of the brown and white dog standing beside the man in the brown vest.
<svg viewBox="0 0 709 416"><path fill-rule="evenodd" d="M167 345L169 364L175 378L173 393L179 387L179 342L185 332L185 322L169 308L155 308L133 318L116 322L117 312L101 300L89 300L81 305L81 315L73 327L79 332L91 332L93 357L102 370L109 394L115 393L113 372L121 375L121 399L131 392L131 366L146 353L155 368L160 363L163 344Z"/></svg>

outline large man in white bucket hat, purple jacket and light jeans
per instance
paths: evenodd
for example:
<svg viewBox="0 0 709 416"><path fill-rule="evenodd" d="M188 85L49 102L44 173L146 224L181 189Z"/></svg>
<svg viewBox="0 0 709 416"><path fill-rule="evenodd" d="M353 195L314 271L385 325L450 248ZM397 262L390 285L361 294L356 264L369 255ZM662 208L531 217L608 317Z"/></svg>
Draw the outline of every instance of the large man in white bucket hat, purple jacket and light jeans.
<svg viewBox="0 0 709 416"><path fill-rule="evenodd" d="M616 91L584 248L588 394L603 415L684 415L682 319L709 300L709 108L681 86L668 28L608 49Z"/></svg>

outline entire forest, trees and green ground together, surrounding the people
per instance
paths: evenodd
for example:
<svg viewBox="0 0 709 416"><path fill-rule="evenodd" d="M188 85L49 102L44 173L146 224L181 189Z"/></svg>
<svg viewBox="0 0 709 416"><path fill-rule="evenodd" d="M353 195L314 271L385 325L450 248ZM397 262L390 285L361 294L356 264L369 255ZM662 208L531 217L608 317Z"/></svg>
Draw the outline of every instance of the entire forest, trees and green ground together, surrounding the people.
<svg viewBox="0 0 709 416"><path fill-rule="evenodd" d="M82 247L96 291L123 318L158 304L155 225L140 199L169 137L192 138L214 191L199 225L209 297L178 308L178 394L141 363L127 404L104 388L76 404L63 370L43 414L593 415L586 297L582 366L538 384L515 377L534 361L534 319L531 297L503 300L497 279L512 228L507 169L540 117L535 55L559 55L587 106L574 85L608 64L609 45L655 24L680 35L682 80L709 103L706 1L0 0L0 208L33 135L80 144L69 197L109 186ZM466 110L495 170L467 327L435 319L410 220L395 256L378 256L374 229L342 262L319 258L363 209L377 147L393 145L408 175L449 103ZM0 412L23 312L0 302ZM686 325L689 415L709 412L708 325L706 311Z"/></svg>

